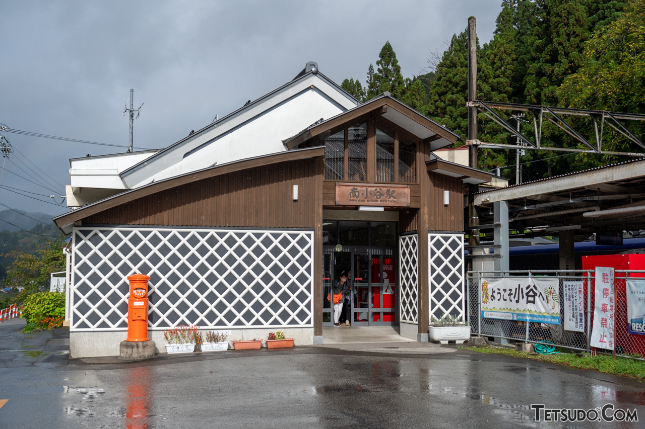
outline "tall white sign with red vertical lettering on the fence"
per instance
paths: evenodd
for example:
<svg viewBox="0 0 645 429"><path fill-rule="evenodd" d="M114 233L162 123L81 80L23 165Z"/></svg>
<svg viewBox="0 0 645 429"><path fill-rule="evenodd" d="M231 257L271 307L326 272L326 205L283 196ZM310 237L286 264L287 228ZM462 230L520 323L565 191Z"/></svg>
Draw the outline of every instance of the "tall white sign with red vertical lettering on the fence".
<svg viewBox="0 0 645 429"><path fill-rule="evenodd" d="M616 314L613 267L596 267L595 283L591 347L613 350L615 346L613 330Z"/></svg>

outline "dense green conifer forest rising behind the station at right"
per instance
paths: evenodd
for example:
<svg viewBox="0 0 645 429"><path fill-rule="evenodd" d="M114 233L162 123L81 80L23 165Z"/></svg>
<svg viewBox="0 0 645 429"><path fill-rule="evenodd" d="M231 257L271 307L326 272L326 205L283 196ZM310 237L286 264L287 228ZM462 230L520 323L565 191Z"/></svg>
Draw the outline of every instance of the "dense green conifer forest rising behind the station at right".
<svg viewBox="0 0 645 429"><path fill-rule="evenodd" d="M493 38L478 43L477 59L479 100L645 113L645 0L502 0ZM361 100L390 91L465 140L467 28L453 35L442 55L429 62L429 73L404 79L393 47L386 42L376 70L373 64L368 68L366 86L346 79L342 87ZM507 119L511 115L498 113ZM479 140L515 143L510 133L484 118L479 117ZM593 129L584 120L572 122L591 137ZM524 126L522 131L532 135L532 124ZM555 126L543 129L545 146L578 146ZM645 132L642 123L630 124L630 129L637 135ZM611 129L605 129L604 141L642 151ZM628 158L529 150L521 158L523 181L624 159ZM480 168L498 166L502 175L513 179L515 149L479 149Z"/></svg>

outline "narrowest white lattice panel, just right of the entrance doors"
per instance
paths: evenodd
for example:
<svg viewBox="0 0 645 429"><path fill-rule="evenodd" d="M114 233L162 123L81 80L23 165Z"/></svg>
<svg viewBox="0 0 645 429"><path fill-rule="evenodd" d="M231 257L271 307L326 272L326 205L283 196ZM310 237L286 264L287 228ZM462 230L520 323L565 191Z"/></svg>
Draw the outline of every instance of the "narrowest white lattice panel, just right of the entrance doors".
<svg viewBox="0 0 645 429"><path fill-rule="evenodd" d="M399 278L401 279L401 321L419 323L417 234L399 238Z"/></svg>

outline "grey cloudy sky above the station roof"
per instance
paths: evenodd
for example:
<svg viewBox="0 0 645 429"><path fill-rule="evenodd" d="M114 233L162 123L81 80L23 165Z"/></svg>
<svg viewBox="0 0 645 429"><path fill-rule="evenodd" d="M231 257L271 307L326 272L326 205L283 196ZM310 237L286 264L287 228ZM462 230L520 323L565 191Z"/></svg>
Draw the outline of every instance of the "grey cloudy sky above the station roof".
<svg viewBox="0 0 645 429"><path fill-rule="evenodd" d="M0 123L127 145L128 119L121 113L134 88L135 107L145 102L135 121L135 147L163 148L203 128L215 115L222 117L290 81L307 61L318 62L335 82L346 77L364 81L370 62L389 40L404 76L418 75L428 53L442 52L453 33L466 28L470 15L477 17L479 40L488 42L500 4L6 0L0 2ZM2 184L41 195L64 195L69 158L121 151L3 134L22 154L14 153L6 168L45 182L24 161L52 189L12 173L6 173ZM64 205L6 190L0 192L0 202L27 211L66 211Z"/></svg>

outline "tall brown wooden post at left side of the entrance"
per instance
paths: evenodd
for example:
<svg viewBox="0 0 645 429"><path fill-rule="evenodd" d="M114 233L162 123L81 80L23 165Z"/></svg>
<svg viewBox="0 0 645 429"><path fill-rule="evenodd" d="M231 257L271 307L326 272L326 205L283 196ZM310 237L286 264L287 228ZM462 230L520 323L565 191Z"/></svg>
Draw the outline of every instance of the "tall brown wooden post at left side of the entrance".
<svg viewBox="0 0 645 429"><path fill-rule="evenodd" d="M313 343L323 344L323 177L324 159L316 158L313 213Z"/></svg>

